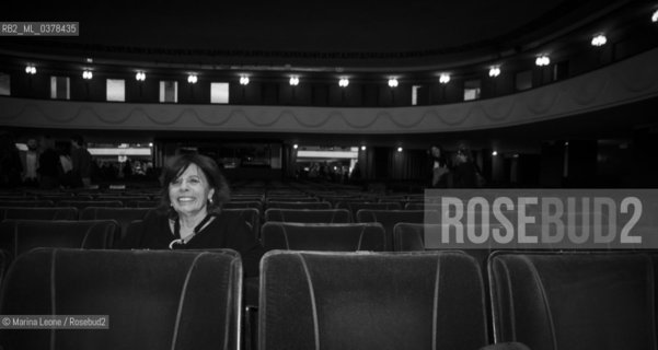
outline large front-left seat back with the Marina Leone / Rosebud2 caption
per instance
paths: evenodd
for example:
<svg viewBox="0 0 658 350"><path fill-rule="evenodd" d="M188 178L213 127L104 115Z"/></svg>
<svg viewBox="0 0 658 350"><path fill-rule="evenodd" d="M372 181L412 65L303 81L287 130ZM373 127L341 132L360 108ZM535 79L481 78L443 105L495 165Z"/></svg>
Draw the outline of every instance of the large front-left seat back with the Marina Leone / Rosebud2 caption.
<svg viewBox="0 0 658 350"><path fill-rule="evenodd" d="M238 253L35 249L0 314L107 315L103 330L0 330L4 349L238 349Z"/></svg>

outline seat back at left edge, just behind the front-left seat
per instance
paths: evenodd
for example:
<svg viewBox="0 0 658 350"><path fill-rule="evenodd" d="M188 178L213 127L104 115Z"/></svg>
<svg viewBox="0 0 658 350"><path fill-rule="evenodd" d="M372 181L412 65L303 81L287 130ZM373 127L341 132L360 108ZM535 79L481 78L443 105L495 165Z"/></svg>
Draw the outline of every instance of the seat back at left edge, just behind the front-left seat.
<svg viewBox="0 0 658 350"><path fill-rule="evenodd" d="M114 220L4 220L0 248L14 257L37 247L108 249L119 234Z"/></svg>

